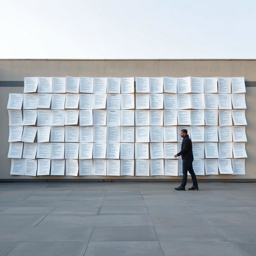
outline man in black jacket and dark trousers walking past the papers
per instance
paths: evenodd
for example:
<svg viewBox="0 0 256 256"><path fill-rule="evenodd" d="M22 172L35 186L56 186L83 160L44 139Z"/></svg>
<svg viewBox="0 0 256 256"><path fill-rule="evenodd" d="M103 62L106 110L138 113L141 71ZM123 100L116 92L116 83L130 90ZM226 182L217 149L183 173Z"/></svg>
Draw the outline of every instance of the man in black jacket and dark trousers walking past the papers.
<svg viewBox="0 0 256 256"><path fill-rule="evenodd" d="M186 129L182 129L180 131L180 136L183 138L181 144L181 150L174 157L177 158L181 156L182 158L182 183L176 190L185 190L185 186L187 184L188 179L188 171L191 175L193 186L189 188L189 190L198 190L198 184L196 180L196 174L193 170L192 162L194 160L193 152L192 152L192 142L188 136L188 131Z"/></svg>

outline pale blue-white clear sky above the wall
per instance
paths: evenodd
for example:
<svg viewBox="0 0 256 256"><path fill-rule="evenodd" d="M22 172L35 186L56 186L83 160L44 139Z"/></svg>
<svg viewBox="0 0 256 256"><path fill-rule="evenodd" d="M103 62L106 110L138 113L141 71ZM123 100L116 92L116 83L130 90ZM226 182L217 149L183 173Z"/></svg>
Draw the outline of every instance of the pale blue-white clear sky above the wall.
<svg viewBox="0 0 256 256"><path fill-rule="evenodd" d="M256 58L255 0L0 0L0 58Z"/></svg>

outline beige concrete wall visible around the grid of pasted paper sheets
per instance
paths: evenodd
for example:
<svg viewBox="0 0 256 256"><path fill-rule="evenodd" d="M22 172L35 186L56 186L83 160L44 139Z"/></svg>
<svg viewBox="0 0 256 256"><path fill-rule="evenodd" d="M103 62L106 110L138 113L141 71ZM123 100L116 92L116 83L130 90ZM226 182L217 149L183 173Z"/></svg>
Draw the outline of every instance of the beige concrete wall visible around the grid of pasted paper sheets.
<svg viewBox="0 0 256 256"><path fill-rule="evenodd" d="M200 180L256 180L256 60L0 60L0 180L145 180L139 176L15 176L10 175L8 154L8 94L22 93L26 76L244 76L246 80L246 175L198 176ZM11 82L8 82L11 81ZM180 177L171 177L171 180ZM146 180L170 180L170 176L149 176Z"/></svg>

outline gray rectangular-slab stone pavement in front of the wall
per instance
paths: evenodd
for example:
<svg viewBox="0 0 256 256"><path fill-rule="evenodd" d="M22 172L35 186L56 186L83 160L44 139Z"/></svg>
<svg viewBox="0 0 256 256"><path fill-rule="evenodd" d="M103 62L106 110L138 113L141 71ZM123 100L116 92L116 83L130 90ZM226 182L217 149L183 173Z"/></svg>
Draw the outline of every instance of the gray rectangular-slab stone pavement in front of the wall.
<svg viewBox="0 0 256 256"><path fill-rule="evenodd" d="M2 182L0 256L256 255L256 183L178 185Z"/></svg>

